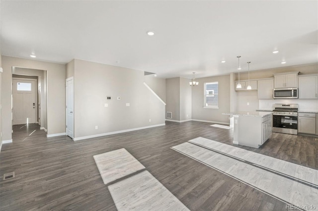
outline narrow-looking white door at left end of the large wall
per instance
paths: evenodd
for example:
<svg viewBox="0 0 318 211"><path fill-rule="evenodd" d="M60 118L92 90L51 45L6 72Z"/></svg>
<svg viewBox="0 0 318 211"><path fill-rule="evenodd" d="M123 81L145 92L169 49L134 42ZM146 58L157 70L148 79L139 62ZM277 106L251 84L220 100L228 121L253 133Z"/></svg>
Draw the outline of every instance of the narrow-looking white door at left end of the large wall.
<svg viewBox="0 0 318 211"><path fill-rule="evenodd" d="M66 79L66 134L72 139L73 134L73 77Z"/></svg>

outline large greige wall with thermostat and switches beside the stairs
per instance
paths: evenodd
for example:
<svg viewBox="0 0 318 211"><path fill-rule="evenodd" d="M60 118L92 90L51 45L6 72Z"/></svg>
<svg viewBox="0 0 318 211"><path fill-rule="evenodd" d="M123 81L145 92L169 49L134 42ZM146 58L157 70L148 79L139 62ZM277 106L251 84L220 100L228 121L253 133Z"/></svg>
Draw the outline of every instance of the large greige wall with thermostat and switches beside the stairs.
<svg viewBox="0 0 318 211"><path fill-rule="evenodd" d="M164 124L165 106L143 84L152 81L151 88L164 90L164 80L146 79L149 76L143 71L79 59L74 67L75 139ZM112 99L108 101L106 96Z"/></svg>

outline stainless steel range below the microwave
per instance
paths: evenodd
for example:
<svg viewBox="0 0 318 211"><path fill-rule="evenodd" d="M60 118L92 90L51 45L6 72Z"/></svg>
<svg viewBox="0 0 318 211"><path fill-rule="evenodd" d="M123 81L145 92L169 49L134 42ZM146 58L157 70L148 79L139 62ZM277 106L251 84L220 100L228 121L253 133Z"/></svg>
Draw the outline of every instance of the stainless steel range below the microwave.
<svg viewBox="0 0 318 211"><path fill-rule="evenodd" d="M297 135L298 104L275 104L273 132Z"/></svg>

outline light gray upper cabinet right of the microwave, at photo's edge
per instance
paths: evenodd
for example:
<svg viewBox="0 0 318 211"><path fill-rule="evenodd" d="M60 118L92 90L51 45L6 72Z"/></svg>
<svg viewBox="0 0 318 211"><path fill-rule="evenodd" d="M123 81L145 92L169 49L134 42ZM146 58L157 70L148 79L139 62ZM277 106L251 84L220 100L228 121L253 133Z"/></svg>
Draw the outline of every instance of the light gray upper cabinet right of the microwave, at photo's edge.
<svg viewBox="0 0 318 211"><path fill-rule="evenodd" d="M300 75L299 99L318 99L318 75Z"/></svg>

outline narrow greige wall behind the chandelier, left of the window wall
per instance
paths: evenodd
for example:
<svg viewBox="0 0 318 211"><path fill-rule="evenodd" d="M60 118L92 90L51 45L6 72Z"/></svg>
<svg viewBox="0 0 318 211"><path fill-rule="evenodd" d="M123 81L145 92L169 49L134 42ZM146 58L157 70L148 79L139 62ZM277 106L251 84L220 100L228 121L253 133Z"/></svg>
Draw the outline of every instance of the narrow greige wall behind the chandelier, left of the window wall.
<svg viewBox="0 0 318 211"><path fill-rule="evenodd" d="M192 118L192 88L191 79L180 78L180 121Z"/></svg>

